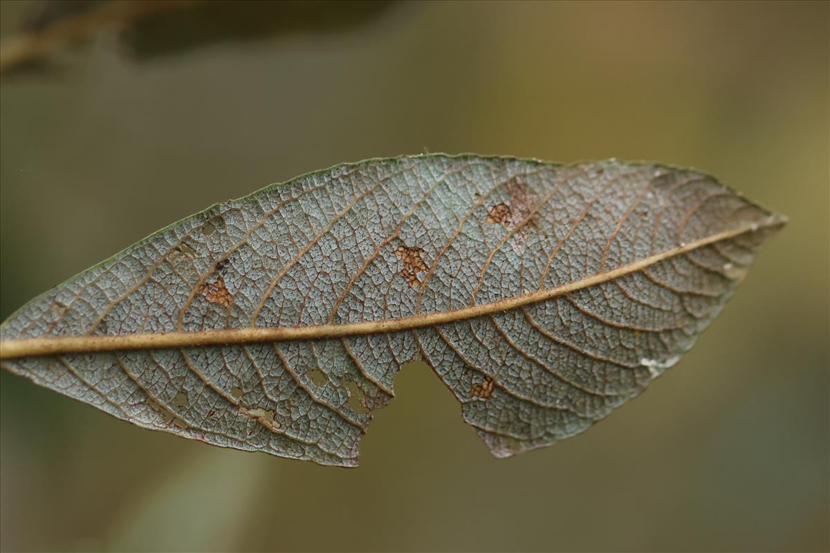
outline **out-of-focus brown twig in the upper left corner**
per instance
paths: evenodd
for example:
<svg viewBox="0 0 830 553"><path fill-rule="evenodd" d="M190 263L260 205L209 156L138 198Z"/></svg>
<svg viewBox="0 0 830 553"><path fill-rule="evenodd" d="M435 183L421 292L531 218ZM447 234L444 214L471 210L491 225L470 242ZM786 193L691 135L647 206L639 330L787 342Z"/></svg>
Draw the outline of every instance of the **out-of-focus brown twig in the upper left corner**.
<svg viewBox="0 0 830 553"><path fill-rule="evenodd" d="M113 0L50 25L0 42L0 73L45 56L71 42L86 41L106 25L123 26L142 17L171 8L188 6L201 0Z"/></svg>

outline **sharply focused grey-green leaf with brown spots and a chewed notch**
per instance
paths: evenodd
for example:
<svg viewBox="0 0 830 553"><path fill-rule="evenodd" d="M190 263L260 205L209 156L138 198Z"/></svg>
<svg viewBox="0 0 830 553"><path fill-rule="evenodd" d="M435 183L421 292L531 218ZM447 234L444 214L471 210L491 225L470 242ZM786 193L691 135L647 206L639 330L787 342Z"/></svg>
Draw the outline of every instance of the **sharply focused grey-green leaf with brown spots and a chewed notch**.
<svg viewBox="0 0 830 553"><path fill-rule="evenodd" d="M640 393L785 221L662 165L374 159L159 230L27 303L0 357L145 428L342 466L420 357L505 457Z"/></svg>

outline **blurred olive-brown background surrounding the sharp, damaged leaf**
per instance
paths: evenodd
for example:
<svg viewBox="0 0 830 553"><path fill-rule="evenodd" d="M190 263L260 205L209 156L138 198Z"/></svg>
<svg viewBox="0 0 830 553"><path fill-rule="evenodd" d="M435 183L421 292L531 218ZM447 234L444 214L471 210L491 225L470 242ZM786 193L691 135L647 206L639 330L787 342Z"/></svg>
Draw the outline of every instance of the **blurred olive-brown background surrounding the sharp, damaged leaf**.
<svg viewBox="0 0 830 553"><path fill-rule="evenodd" d="M215 201L403 153L699 167L790 222L678 366L497 460L406 366L360 468L0 375L3 551L828 551L830 3L0 2L0 316Z"/></svg>

